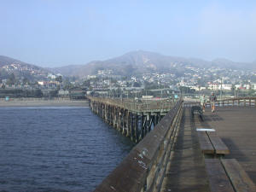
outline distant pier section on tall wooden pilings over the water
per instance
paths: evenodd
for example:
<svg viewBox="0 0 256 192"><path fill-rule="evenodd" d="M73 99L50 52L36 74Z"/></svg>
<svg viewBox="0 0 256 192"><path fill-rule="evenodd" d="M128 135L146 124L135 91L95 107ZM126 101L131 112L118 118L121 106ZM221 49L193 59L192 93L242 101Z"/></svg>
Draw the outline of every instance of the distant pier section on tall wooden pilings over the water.
<svg viewBox="0 0 256 192"><path fill-rule="evenodd" d="M133 100L87 96L90 108L126 137L138 143L173 107L173 101Z"/></svg>

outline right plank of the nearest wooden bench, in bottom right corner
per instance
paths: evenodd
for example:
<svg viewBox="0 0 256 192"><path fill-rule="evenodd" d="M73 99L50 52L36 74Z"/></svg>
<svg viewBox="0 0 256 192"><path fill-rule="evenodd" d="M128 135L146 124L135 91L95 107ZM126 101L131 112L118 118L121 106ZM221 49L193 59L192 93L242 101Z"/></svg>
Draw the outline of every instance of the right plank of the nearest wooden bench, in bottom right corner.
<svg viewBox="0 0 256 192"><path fill-rule="evenodd" d="M237 160L223 159L221 162L236 192L256 192L255 184L250 177L248 177Z"/></svg>

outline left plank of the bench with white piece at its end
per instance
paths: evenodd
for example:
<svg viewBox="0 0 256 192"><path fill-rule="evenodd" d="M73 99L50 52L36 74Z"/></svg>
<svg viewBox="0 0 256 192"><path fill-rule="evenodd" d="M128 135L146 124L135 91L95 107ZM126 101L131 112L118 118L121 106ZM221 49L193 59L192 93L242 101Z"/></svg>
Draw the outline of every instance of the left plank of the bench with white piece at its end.
<svg viewBox="0 0 256 192"><path fill-rule="evenodd" d="M207 136L206 131L197 131L201 152L203 154L214 154L214 148L212 147L212 143Z"/></svg>

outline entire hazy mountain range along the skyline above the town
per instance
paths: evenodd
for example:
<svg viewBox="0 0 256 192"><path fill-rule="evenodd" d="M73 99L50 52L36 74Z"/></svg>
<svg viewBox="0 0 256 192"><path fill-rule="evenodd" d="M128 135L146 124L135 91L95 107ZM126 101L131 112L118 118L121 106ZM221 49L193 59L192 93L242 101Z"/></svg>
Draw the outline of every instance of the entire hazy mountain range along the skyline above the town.
<svg viewBox="0 0 256 192"><path fill-rule="evenodd" d="M61 73L64 76L77 76L83 78L87 75L96 74L99 70L112 70L113 74L131 76L142 73L184 73L185 67L198 68L232 68L256 70L256 62L234 62L226 59L216 59L213 61L205 61L196 58L184 58L168 55L160 55L149 51L132 51L105 61L90 61L84 65L69 65L64 67L43 68L32 64L27 64L6 56L0 56L0 70L11 64L19 64L23 69L29 68L35 70L40 75L47 73ZM36 74L36 73L35 73Z"/></svg>

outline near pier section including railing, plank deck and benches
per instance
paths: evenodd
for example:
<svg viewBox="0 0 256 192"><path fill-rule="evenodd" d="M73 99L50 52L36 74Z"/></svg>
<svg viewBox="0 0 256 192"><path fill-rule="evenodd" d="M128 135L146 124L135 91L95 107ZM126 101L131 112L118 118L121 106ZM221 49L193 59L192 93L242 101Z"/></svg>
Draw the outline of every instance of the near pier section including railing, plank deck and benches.
<svg viewBox="0 0 256 192"><path fill-rule="evenodd" d="M256 192L255 103L221 101L201 118L177 102L95 191Z"/></svg>

